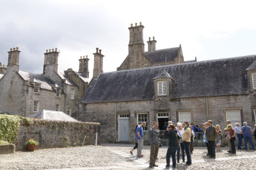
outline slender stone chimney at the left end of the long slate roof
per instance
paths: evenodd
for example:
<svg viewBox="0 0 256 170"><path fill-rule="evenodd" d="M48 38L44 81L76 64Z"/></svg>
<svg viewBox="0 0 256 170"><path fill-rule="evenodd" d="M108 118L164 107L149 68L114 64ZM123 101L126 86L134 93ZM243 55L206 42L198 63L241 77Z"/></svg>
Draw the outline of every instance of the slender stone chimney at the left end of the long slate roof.
<svg viewBox="0 0 256 170"><path fill-rule="evenodd" d="M94 67L93 67L93 78L97 78L100 73L103 73L103 57L101 50L96 48L94 55Z"/></svg>

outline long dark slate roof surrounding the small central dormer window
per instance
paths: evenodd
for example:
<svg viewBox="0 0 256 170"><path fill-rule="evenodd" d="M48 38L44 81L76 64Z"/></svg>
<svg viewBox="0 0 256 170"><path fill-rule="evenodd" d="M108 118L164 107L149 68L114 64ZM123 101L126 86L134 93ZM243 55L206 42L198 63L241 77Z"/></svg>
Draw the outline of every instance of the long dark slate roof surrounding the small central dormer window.
<svg viewBox="0 0 256 170"><path fill-rule="evenodd" d="M255 60L256 55L250 55L102 73L81 103L154 99L153 78L163 71L177 82L175 98L248 94L246 68Z"/></svg>

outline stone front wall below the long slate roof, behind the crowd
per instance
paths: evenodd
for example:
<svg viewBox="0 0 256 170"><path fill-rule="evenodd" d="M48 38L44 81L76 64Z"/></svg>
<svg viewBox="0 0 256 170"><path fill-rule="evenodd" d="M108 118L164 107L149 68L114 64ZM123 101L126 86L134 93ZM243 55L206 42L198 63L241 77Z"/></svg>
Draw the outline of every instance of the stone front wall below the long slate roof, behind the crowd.
<svg viewBox="0 0 256 170"><path fill-rule="evenodd" d="M191 122L202 127L207 119L213 125L219 124L221 129L226 126L226 110L241 110L241 122L255 124L253 111L256 109L256 99L253 94L241 96L191 97L171 100L168 97L157 97L152 101L129 101L116 103L83 104L79 108L79 118L86 122L102 124L101 138L105 142L118 142L118 115L129 114L129 141L134 141L134 127L138 113L147 113L148 128L157 120L157 113L169 113L169 120L179 122L179 111L191 111ZM116 112L115 112L116 110ZM116 114L116 115L115 115Z"/></svg>

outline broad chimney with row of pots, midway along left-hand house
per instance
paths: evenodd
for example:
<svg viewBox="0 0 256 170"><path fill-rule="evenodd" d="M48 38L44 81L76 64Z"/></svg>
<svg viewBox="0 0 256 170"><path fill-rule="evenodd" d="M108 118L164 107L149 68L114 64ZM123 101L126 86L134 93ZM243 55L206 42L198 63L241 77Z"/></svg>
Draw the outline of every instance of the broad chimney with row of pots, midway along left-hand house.
<svg viewBox="0 0 256 170"><path fill-rule="evenodd" d="M58 73L58 57L59 53L57 52L57 48L46 50L44 53L44 74L51 74L52 71Z"/></svg>

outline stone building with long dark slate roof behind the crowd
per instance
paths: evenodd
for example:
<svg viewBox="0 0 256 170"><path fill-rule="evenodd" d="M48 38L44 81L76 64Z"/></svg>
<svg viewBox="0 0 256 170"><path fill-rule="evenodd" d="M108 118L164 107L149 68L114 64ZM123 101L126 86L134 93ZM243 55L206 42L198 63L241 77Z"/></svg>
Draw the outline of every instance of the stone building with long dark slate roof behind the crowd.
<svg viewBox="0 0 256 170"><path fill-rule="evenodd" d="M168 120L255 124L256 55L184 62L181 47L156 50L154 39L144 52L143 25L129 31L119 71L95 78L79 107L80 120L100 122L102 140L132 142L136 124L156 120L160 129Z"/></svg>

